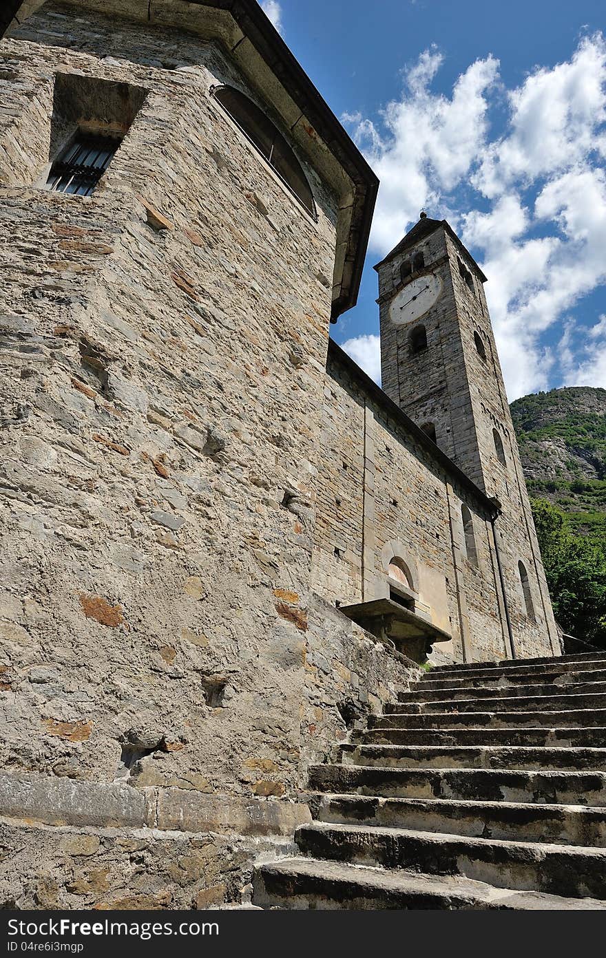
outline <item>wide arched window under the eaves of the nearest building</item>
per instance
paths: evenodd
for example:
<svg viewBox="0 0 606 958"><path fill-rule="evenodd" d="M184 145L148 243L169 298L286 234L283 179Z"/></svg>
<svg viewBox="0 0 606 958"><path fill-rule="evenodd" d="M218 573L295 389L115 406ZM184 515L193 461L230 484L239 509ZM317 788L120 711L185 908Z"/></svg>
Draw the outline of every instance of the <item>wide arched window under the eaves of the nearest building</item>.
<svg viewBox="0 0 606 958"><path fill-rule="evenodd" d="M233 86L220 86L214 91L214 95L305 209L315 217L314 196L303 168L265 113Z"/></svg>

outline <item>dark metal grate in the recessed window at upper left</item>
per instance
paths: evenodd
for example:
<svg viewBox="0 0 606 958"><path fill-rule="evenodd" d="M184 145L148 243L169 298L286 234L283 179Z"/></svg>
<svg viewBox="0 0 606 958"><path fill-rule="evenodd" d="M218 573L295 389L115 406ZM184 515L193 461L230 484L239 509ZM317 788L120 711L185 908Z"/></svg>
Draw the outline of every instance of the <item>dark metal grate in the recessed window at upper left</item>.
<svg viewBox="0 0 606 958"><path fill-rule="evenodd" d="M119 146L120 141L110 137L78 135L53 164L47 189L88 196Z"/></svg>

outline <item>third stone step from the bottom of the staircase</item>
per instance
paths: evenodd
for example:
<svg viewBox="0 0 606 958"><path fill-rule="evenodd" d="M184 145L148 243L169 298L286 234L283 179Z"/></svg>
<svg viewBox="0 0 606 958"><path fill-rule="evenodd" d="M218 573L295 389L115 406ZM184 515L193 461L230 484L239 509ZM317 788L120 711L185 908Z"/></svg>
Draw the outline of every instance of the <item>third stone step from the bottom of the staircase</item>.
<svg viewBox="0 0 606 958"><path fill-rule="evenodd" d="M322 822L378 825L472 838L524 838L533 842L606 846L606 809L580 805L321 795L315 818Z"/></svg>

